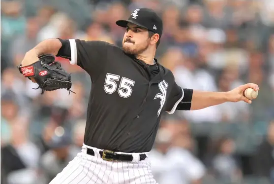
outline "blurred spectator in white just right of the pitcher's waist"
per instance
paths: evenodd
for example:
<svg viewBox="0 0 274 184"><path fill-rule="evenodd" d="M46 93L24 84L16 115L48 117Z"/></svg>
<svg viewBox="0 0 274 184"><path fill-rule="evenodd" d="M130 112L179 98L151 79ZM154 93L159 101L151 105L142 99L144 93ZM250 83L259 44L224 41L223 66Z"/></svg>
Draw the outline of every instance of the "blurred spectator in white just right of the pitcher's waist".
<svg viewBox="0 0 274 184"><path fill-rule="evenodd" d="M169 121L163 125L160 133L170 137L169 149L166 150L167 143L160 144L157 152L152 158L152 172L158 176L159 184L201 184L205 175L204 165L197 159L193 150L193 140L189 134L187 123L180 121ZM164 136L162 135L162 137ZM162 146L161 146L162 145ZM153 152L152 152L153 153ZM162 157L160 153L164 154ZM160 163L164 166L160 166ZM160 175L159 175L160 174Z"/></svg>

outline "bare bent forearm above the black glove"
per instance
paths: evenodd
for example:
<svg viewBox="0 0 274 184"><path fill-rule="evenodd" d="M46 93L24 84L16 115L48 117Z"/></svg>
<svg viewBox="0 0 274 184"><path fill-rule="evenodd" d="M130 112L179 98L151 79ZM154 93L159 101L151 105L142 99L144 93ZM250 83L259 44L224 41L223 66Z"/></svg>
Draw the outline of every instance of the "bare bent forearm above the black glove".
<svg viewBox="0 0 274 184"><path fill-rule="evenodd" d="M62 44L59 39L46 39L38 43L34 48L28 51L25 54L25 57L22 61L22 66L28 66L32 63L38 61L38 56L44 54L57 55Z"/></svg>

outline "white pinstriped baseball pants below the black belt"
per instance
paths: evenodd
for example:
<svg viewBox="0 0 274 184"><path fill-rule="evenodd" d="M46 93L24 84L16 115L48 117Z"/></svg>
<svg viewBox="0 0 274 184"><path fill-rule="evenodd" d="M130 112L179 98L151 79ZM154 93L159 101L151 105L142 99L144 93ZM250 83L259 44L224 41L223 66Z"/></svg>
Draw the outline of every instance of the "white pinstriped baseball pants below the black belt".
<svg viewBox="0 0 274 184"><path fill-rule="evenodd" d="M87 147L93 149L95 155L87 154ZM83 144L82 151L68 163L50 184L156 184L151 171L151 163L147 158L139 161L138 154L132 154L132 162L105 161L100 157L101 149Z"/></svg>

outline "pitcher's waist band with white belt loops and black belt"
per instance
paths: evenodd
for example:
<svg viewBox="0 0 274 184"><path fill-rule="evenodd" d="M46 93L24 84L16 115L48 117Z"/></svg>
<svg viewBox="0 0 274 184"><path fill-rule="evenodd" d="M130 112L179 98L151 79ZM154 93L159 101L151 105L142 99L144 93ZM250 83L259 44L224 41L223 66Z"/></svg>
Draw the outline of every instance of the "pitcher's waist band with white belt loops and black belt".
<svg viewBox="0 0 274 184"><path fill-rule="evenodd" d="M142 153L126 153L116 152L112 150L99 149L96 147L90 147L83 144L82 152L97 158L102 158L106 161L127 161L127 162L139 162L145 160L149 152Z"/></svg>

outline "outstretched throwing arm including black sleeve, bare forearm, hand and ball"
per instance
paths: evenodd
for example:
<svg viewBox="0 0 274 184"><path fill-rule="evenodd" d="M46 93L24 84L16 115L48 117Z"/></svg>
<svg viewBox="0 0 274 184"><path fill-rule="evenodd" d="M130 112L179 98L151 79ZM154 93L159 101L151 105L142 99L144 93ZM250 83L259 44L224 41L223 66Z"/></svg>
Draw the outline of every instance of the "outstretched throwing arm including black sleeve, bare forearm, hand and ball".
<svg viewBox="0 0 274 184"><path fill-rule="evenodd" d="M244 84L227 92L182 89L174 83L165 111L172 114L175 110L200 110L226 102L244 101L251 104L251 100L257 97L258 91L259 86L254 83Z"/></svg>

